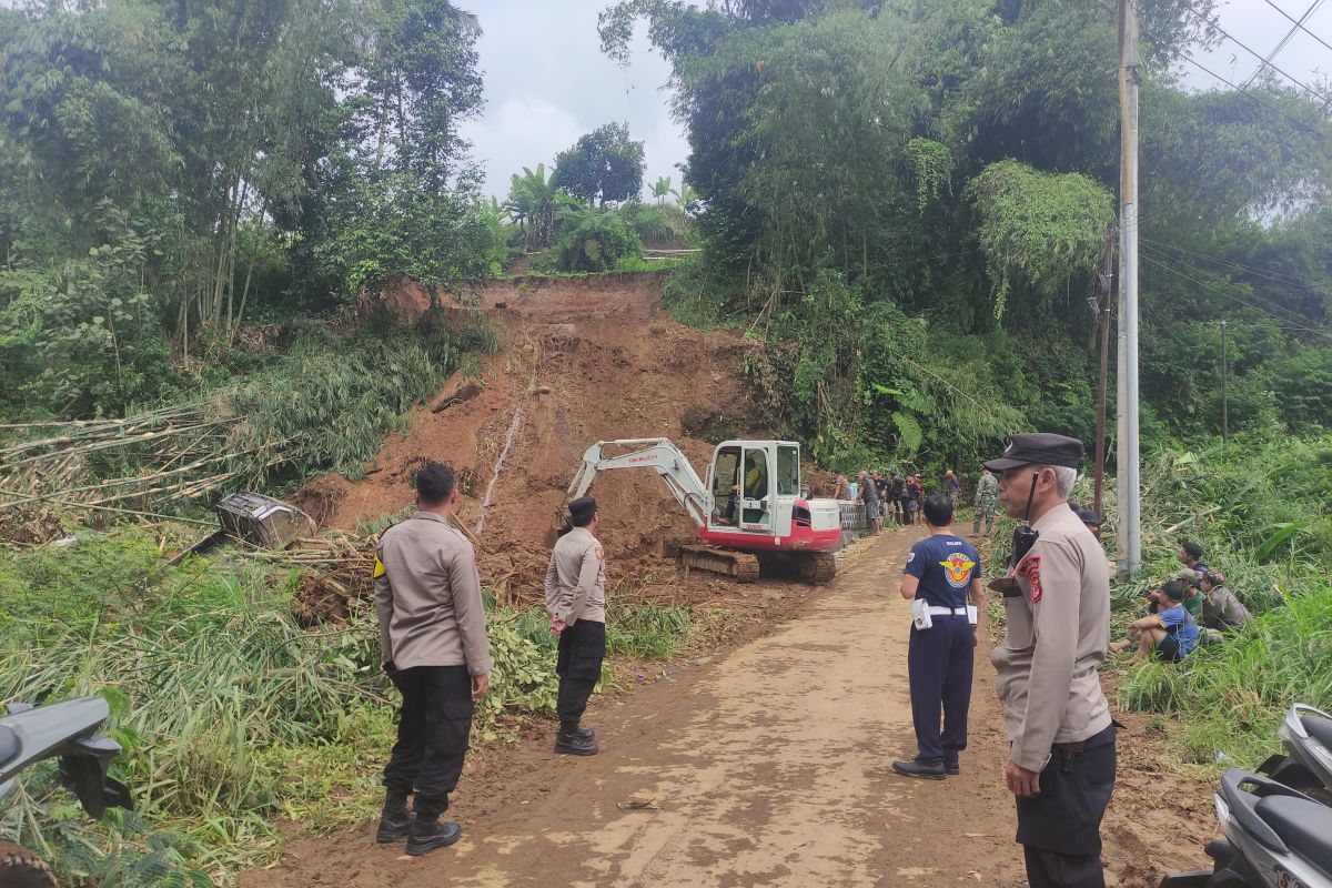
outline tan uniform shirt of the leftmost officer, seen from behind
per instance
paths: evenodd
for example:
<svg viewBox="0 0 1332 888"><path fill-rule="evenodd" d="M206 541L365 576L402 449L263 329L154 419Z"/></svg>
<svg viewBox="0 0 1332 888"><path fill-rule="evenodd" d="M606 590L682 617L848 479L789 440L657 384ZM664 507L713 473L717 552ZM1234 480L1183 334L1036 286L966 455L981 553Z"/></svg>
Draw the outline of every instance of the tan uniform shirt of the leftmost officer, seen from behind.
<svg viewBox="0 0 1332 888"><path fill-rule="evenodd" d="M468 538L434 513L389 527L376 553L374 611L384 659L413 666L466 666L490 672L481 574Z"/></svg>

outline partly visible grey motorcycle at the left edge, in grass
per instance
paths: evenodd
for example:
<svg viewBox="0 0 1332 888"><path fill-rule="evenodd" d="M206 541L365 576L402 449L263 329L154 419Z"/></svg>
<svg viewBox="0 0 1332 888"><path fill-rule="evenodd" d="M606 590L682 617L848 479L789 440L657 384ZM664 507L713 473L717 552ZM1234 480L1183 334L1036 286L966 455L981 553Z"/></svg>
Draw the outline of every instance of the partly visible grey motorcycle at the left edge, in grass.
<svg viewBox="0 0 1332 888"><path fill-rule="evenodd" d="M11 703L0 716L0 799L13 792L17 776L45 759L60 759L60 781L79 796L93 819L109 807L131 808L129 789L107 776L120 744L96 732L111 715L100 696L48 706ZM53 888L51 869L31 851L0 841L0 887Z"/></svg>

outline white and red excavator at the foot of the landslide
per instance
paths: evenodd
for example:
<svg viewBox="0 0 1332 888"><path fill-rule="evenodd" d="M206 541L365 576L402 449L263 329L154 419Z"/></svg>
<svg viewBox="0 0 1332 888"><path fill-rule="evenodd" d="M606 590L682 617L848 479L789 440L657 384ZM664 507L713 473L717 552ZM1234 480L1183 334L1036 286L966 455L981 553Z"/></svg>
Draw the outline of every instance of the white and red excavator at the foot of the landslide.
<svg viewBox="0 0 1332 888"><path fill-rule="evenodd" d="M801 497L801 446L794 441L723 441L713 450L706 483L669 438L598 441L569 483L561 519L567 503L611 469L651 469L698 525L702 542L681 546L682 567L739 582L757 580L761 567L786 567L815 584L836 572L838 503Z"/></svg>

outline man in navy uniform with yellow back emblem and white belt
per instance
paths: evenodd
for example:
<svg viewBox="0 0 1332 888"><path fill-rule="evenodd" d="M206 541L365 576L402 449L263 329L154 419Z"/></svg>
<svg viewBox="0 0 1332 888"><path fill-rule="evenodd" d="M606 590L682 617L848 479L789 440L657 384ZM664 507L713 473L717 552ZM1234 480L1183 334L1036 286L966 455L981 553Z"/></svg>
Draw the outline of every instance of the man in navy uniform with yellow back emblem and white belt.
<svg viewBox="0 0 1332 888"><path fill-rule="evenodd" d="M916 756L894 762L908 777L943 780L959 774L958 755L967 748L967 708L976 646L975 614L983 603L980 554L952 533L952 498L931 494L924 501L930 535L911 547L902 570L902 598L928 614L916 618L907 648L911 719ZM967 596L975 610L967 607ZM943 732L939 711L943 710Z"/></svg>

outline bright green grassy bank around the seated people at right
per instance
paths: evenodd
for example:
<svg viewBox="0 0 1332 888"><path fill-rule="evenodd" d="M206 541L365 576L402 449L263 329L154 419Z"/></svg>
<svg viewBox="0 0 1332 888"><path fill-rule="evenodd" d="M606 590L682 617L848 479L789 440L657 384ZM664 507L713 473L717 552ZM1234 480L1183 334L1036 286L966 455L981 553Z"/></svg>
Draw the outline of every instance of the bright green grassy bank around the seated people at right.
<svg viewBox="0 0 1332 888"><path fill-rule="evenodd" d="M1114 590L1116 622L1142 615L1139 595L1179 570L1181 539L1255 612L1245 631L1200 647L1181 666L1147 663L1120 683L1134 707L1177 715L1171 748L1208 764L1221 752L1253 767L1280 751L1291 703L1332 707L1332 438L1244 437L1197 453L1160 453L1143 473L1146 576ZM1169 533L1166 533L1167 529Z"/></svg>

